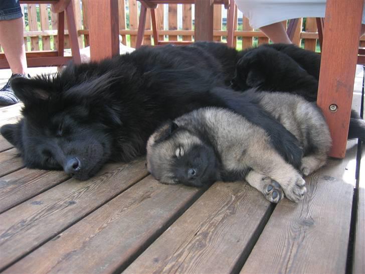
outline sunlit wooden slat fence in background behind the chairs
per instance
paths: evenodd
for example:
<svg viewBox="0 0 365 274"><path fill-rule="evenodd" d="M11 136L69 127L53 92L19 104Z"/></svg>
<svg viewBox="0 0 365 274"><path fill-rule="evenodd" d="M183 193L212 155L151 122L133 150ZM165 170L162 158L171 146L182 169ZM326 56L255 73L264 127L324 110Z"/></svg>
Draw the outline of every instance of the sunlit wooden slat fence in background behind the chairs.
<svg viewBox="0 0 365 274"><path fill-rule="evenodd" d="M140 3L136 0L118 0L119 2L119 33L122 36L124 45L134 47L137 37L138 28L138 10ZM89 45L88 40L88 7L87 1L73 0L74 11L76 16L76 26L79 35L80 47ZM194 12L193 5L159 5L157 7L158 28L161 30L160 39L176 40L178 37L184 41L194 39ZM237 7L236 7L237 9ZM57 15L50 11L50 5L47 4L31 4L22 5L24 16L24 39L26 41L27 51L44 51L56 49L57 41ZM166 12L164 12L164 10ZM180 12L178 12L178 10ZM168 12L167 12L168 11ZM225 9L223 5L214 5L214 40L224 41L227 35L226 17L223 16ZM225 13L226 14L226 13ZM237 13L236 13L237 14ZM95 19L94 19L95 20ZM178 22L178 20L180 22ZM66 20L67 21L67 20ZM153 44L151 38L152 31L150 30L150 14L147 12L146 31L143 44ZM268 38L260 31L253 30L249 26L247 18L238 15L235 18L234 46L238 49L252 47L268 43ZM283 22L286 24L286 22ZM164 28L167 27L167 29ZM180 28L178 29L178 26ZM67 34L67 22L65 24ZM164 37L162 37L164 36ZM301 19L293 42L301 45L305 49L315 51L318 50L317 26L315 18ZM365 37L361 38L365 41ZM364 43L364 42L361 42ZM70 48L68 37L65 38L65 48Z"/></svg>

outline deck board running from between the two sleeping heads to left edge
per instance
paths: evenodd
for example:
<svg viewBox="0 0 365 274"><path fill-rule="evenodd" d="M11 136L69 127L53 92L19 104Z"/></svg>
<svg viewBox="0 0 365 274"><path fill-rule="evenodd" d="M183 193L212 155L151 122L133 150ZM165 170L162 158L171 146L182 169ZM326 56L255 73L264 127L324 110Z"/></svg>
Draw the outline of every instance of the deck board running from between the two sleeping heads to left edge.
<svg viewBox="0 0 365 274"><path fill-rule="evenodd" d="M67 180L0 215L0 268L24 256L147 175L144 160Z"/></svg>

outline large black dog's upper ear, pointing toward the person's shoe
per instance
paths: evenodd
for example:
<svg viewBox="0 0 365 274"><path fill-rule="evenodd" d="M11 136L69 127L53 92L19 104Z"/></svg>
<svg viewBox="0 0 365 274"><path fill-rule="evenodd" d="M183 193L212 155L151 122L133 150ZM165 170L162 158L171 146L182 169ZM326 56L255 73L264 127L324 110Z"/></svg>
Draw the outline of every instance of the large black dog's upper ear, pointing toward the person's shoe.
<svg viewBox="0 0 365 274"><path fill-rule="evenodd" d="M40 79L16 77L11 81L15 95L25 104L47 100L51 96L48 86Z"/></svg>

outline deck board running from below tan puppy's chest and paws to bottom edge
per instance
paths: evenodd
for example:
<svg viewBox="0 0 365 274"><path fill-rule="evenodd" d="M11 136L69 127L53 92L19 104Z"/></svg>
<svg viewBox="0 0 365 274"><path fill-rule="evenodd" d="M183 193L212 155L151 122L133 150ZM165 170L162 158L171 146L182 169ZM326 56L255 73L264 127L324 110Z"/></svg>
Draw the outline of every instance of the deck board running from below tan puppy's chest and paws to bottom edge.
<svg viewBox="0 0 365 274"><path fill-rule="evenodd" d="M232 273L271 210L246 183L215 183L123 273Z"/></svg>

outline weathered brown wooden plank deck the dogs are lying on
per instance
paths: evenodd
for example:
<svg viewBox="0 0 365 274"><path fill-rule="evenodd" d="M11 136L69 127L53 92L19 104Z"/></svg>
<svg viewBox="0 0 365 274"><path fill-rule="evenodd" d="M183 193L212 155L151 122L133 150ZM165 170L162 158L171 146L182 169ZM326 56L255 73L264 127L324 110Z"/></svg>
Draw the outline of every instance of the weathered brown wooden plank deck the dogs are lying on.
<svg viewBox="0 0 365 274"><path fill-rule="evenodd" d="M0 113L1 125L15 122L20 104ZM83 182L30 170L0 138L4 273L365 273L365 159L357 141L348 142L345 159L306 178L303 201L275 206L244 182L159 184L143 158L108 164Z"/></svg>

